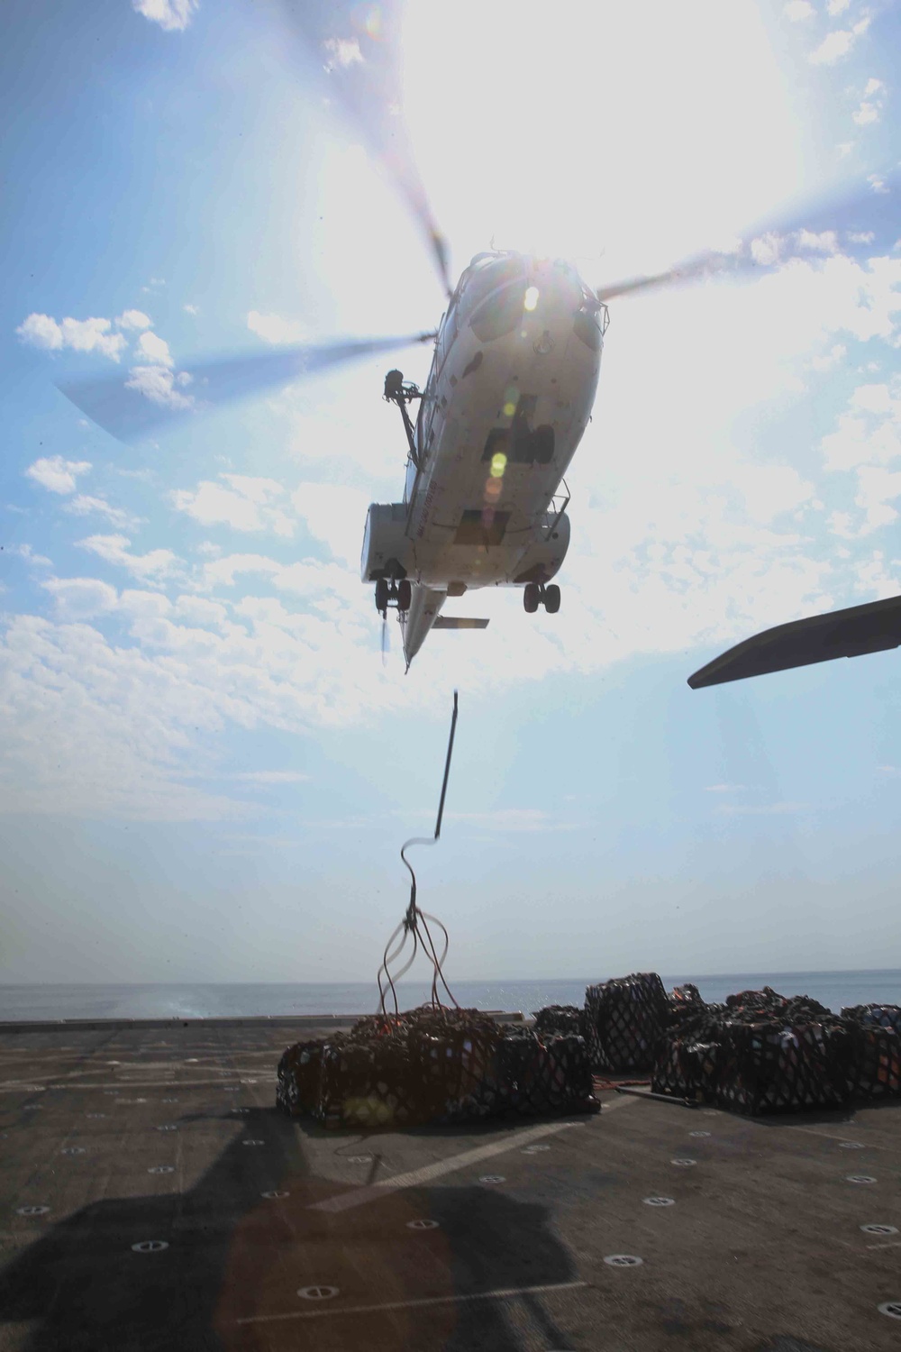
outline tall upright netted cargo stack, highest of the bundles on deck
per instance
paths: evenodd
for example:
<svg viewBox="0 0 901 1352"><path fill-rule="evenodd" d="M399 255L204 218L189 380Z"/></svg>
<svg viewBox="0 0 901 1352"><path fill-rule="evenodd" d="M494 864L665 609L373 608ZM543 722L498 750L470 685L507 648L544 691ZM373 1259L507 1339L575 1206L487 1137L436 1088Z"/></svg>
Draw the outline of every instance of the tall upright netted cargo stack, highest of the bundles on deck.
<svg viewBox="0 0 901 1352"><path fill-rule="evenodd" d="M650 1071L670 1003L657 972L635 972L585 991L593 1064L600 1071Z"/></svg>

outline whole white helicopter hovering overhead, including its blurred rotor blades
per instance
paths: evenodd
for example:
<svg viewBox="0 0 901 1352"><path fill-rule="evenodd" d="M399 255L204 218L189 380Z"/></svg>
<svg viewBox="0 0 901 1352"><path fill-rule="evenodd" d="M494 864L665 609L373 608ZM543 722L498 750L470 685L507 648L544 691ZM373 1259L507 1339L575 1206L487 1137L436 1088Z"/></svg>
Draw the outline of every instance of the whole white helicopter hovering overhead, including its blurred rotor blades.
<svg viewBox="0 0 901 1352"><path fill-rule="evenodd" d="M450 249L428 206L404 128L397 74L400 5L272 0L330 97L419 222L447 296L436 329L398 338L307 343L208 362L189 370L139 366L127 380L61 385L89 418L122 439L174 418L309 377L361 357L430 343L424 385L400 369L382 396L400 412L407 468L398 502L369 507L361 579L382 617L403 630L407 669L432 630L480 630L488 619L446 615L448 599L485 587L521 588L534 614L555 614L570 542L565 473L592 418L609 301L705 277L740 276L821 257L823 235L852 247L871 241L874 208L893 212L870 187L763 223L727 249L705 250L650 276L588 285L565 258L513 250L477 254L451 285ZM866 204L866 210L865 210ZM865 215L862 216L862 211Z"/></svg>

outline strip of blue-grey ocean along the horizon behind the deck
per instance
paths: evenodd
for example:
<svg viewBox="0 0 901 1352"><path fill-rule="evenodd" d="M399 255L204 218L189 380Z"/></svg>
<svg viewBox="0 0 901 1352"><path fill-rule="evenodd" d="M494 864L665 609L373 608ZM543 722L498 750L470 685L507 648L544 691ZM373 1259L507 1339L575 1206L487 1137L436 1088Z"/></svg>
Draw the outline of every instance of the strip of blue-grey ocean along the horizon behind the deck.
<svg viewBox="0 0 901 1352"><path fill-rule="evenodd" d="M604 980L605 977L592 977ZM810 995L836 1013L846 1005L901 1005L901 971L739 972L729 976L665 976L669 988L693 982L705 1000L771 986L782 995ZM461 1006L521 1010L544 1005L582 1005L589 980L454 982ZM401 1009L430 996L426 983L401 982ZM153 986L0 986L0 1021L66 1018L240 1018L261 1014L371 1014L378 1003L373 982L316 984L153 984Z"/></svg>

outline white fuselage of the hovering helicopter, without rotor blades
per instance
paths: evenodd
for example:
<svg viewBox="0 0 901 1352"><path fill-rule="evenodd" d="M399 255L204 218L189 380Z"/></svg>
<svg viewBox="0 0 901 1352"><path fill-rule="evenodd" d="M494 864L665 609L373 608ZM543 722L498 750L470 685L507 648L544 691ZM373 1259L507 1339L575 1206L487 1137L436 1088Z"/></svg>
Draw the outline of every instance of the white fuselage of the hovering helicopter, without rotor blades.
<svg viewBox="0 0 901 1352"><path fill-rule="evenodd" d="M555 493L590 418L605 323L563 261L482 254L463 273L421 392L404 500L373 504L363 541L365 581L411 583L408 664L448 595L530 583L543 594L558 572L569 519Z"/></svg>

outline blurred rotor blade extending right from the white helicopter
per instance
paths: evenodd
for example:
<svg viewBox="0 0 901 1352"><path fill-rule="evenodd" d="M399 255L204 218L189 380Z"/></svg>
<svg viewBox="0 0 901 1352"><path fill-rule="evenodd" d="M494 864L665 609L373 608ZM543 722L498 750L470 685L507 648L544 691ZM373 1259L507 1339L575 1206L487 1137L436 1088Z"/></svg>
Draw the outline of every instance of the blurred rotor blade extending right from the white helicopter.
<svg viewBox="0 0 901 1352"><path fill-rule="evenodd" d="M833 251L874 257L889 251L901 228L897 189L901 174L870 174L866 187L821 197L777 222L765 222L728 253L708 250L644 277L625 277L597 288L600 301L640 291L681 285L717 273L750 273L779 268L796 258L825 258ZM832 239L832 237L835 237ZM832 247L833 245L833 247Z"/></svg>

